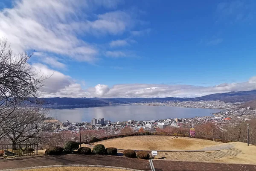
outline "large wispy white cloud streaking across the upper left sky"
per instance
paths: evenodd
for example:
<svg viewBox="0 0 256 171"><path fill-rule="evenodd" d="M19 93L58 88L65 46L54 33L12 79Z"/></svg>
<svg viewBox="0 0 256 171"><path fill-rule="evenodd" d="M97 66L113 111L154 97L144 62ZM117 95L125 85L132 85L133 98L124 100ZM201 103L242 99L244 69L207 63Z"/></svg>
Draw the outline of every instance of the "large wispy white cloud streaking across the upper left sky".
<svg viewBox="0 0 256 171"><path fill-rule="evenodd" d="M120 0L16 0L0 11L0 37L8 38L15 52L36 50L93 62L97 45L79 37L84 34L117 35L134 26L124 11L92 14L99 6L115 8ZM89 17L90 16L90 17ZM95 17L96 16L96 17ZM89 20L90 19L90 20Z"/></svg>

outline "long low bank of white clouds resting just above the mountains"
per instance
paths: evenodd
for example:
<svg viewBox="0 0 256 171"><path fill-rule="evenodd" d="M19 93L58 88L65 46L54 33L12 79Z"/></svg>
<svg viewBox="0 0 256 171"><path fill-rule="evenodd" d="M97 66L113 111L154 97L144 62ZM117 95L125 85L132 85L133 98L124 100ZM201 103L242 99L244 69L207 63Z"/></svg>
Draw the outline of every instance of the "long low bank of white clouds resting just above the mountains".
<svg viewBox="0 0 256 171"><path fill-rule="evenodd" d="M44 66L39 66L43 69ZM51 73L51 72L50 72ZM69 76L60 72L54 72L50 80L47 81L44 97L198 97L213 93L225 93L230 91L256 90L256 76L246 82L223 83L210 87L193 85L167 85L167 84L116 84L108 87L98 84L86 90L81 85L72 80ZM53 84L52 80L57 84Z"/></svg>

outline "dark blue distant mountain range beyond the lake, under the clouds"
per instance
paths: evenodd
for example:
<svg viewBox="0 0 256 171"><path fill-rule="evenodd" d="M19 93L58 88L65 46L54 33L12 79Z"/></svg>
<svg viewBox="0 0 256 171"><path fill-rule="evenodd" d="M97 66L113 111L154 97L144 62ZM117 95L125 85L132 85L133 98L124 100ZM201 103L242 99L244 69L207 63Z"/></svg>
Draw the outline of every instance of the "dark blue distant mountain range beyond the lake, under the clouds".
<svg viewBox="0 0 256 171"><path fill-rule="evenodd" d="M216 93L196 98L42 98L45 105L57 106L98 106L111 104L129 104L146 102L166 102L166 101L209 101L220 100L224 102L247 102L256 100L256 90L238 91L229 93Z"/></svg>

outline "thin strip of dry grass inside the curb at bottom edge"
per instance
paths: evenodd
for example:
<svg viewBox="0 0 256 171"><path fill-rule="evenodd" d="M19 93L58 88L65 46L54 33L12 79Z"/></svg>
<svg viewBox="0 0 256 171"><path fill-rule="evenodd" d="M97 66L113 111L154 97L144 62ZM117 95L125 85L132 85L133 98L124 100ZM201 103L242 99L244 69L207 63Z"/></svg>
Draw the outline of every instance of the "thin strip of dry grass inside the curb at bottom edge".
<svg viewBox="0 0 256 171"><path fill-rule="evenodd" d="M97 168L97 167L55 167L55 168L36 168L22 171L124 171L124 169L115 168Z"/></svg>

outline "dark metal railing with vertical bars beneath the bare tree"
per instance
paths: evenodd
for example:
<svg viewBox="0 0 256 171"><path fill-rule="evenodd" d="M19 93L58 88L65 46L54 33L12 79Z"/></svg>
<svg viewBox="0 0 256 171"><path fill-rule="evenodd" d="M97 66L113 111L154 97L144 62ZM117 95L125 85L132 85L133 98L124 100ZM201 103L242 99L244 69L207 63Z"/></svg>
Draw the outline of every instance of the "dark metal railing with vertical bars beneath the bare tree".
<svg viewBox="0 0 256 171"><path fill-rule="evenodd" d="M0 144L0 157L32 156L38 154L38 144Z"/></svg>

